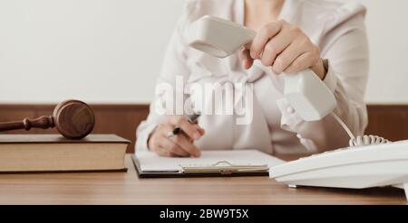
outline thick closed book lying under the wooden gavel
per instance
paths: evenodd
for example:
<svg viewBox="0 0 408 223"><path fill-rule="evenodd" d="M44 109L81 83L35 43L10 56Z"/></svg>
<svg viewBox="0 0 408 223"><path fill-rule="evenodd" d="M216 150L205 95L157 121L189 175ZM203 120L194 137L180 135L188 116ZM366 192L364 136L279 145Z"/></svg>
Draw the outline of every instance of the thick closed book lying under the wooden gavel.
<svg viewBox="0 0 408 223"><path fill-rule="evenodd" d="M0 173L125 172L130 143L117 135L0 135Z"/></svg>

